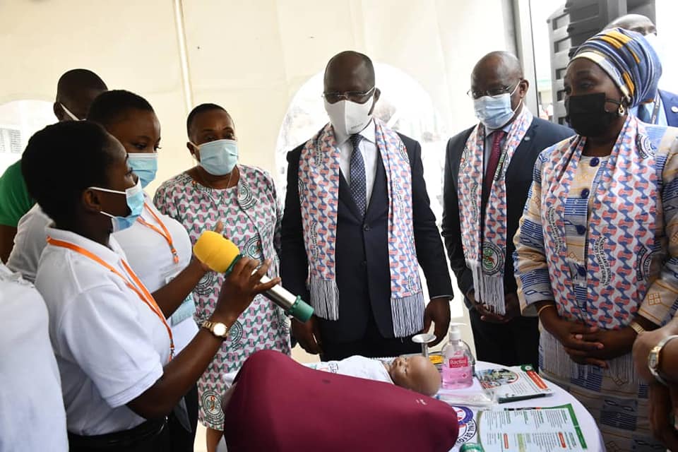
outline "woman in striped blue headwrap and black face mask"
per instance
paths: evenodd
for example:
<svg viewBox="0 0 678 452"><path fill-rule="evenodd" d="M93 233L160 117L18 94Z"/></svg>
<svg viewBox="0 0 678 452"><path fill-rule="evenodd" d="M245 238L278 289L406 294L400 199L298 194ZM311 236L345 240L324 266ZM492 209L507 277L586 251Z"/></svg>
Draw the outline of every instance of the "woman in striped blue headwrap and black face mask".
<svg viewBox="0 0 678 452"><path fill-rule="evenodd" d="M597 420L610 451L655 445L631 347L678 298L678 129L638 121L661 66L636 32L586 41L564 78L578 133L537 159L516 234L523 314L542 325L542 373Z"/></svg>

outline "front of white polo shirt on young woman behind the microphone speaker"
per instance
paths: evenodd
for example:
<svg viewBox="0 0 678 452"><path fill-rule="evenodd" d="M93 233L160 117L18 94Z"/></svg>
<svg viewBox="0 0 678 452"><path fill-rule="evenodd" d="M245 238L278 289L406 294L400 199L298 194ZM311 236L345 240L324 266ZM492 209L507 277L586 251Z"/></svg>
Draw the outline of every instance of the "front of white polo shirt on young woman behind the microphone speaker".
<svg viewBox="0 0 678 452"><path fill-rule="evenodd" d="M172 278L189 265L191 256L193 256L193 249L189 233L186 232L180 222L167 215L162 215L153 206L153 201L148 196L146 197L146 205L153 210L153 213L157 218L160 218L162 224L167 228L167 232L172 237L172 244L177 249L179 263L174 262L174 256L172 256L172 251L169 249L165 237L139 221L126 230L116 232L113 237L124 249L127 263L134 270L134 273L148 287L150 292L155 292L169 283ZM160 224L145 208L141 213L141 218L162 231ZM196 305L193 295L189 294L182 305L167 319L174 334L175 353L181 352L198 333L198 326L193 319L195 311Z"/></svg>

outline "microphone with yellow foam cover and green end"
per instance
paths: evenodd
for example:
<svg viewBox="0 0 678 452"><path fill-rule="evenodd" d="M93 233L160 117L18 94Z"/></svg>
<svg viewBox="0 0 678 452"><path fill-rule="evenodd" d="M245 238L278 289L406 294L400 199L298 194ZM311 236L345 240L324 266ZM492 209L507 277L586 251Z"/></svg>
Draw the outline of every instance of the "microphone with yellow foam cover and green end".
<svg viewBox="0 0 678 452"><path fill-rule="evenodd" d="M287 292L287 290L280 286L278 284L280 283L280 278L270 280L266 276L268 271L266 263L255 271L256 261L251 261L251 259L242 256L238 247L230 240L222 237L221 234L213 231L203 232L198 237L193 252L201 262L218 273L231 275L239 272L238 275L242 277L245 271L249 271L250 278L256 278L256 281L260 283L254 286L251 293L255 295L263 293L270 301L283 308L285 314L295 317L295 319L302 323L311 318L313 314L312 307L305 303L301 297L295 297L295 295L290 294L290 292ZM248 262L243 264L242 261L244 260ZM230 276L230 278L232 277Z"/></svg>

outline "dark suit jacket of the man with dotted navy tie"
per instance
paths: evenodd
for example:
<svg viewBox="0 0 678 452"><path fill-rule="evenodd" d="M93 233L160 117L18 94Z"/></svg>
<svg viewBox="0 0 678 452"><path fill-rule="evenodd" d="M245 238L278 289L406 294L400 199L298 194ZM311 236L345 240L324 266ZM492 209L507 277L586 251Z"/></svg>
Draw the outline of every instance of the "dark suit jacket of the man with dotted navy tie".
<svg viewBox="0 0 678 452"><path fill-rule="evenodd" d="M429 207L424 184L421 146L400 135L412 168L412 220L417 259L424 270L430 297L452 297L452 283L445 261L436 218ZM290 292L309 299L309 263L304 248L299 207L299 157L303 145L287 153L287 196L282 225L280 275ZM364 338L369 317L384 338L393 338L391 273L388 265L388 191L386 171L379 157L376 178L364 220L353 201L343 175L339 182L335 265L339 290L339 319L320 319L323 338L345 343Z"/></svg>

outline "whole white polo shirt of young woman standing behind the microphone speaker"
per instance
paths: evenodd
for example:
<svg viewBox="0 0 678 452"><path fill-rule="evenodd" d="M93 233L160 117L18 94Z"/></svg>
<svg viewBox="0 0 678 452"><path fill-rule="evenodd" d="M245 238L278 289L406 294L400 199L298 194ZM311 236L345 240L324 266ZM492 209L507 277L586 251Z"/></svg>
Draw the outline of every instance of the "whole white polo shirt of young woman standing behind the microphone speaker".
<svg viewBox="0 0 678 452"><path fill-rule="evenodd" d="M148 196L145 196L145 199L148 206L153 209L155 215L165 224L172 236L172 242L179 255L179 263L174 263L167 241L160 234L140 222L135 222L126 230L116 232L113 237L124 249L128 259L127 263L132 270L150 292L155 292L189 265L193 251L191 239L184 226L177 220L162 215L153 206L153 201ZM143 209L141 218L162 230L153 215L148 213L148 210ZM19 220L16 237L14 237L14 247L9 255L7 266L11 270L21 273L23 278L30 282L35 281L40 255L44 247L47 246L45 230L50 223L52 223L52 219L42 212L37 204ZM168 320L174 334L175 353L179 353L186 347L198 333L198 326L193 319L194 312L193 296L189 295L182 306L174 312L172 318Z"/></svg>

